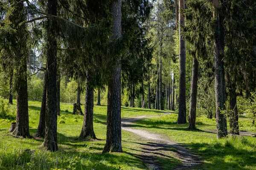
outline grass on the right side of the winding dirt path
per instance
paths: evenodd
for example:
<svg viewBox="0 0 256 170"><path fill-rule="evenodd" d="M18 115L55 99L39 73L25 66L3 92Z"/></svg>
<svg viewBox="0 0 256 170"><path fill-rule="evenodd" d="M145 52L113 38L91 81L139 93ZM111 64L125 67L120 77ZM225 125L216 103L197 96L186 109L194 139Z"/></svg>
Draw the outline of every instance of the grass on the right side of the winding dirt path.
<svg viewBox="0 0 256 170"><path fill-rule="evenodd" d="M241 116L240 130L252 130L246 116ZM202 166L195 169L207 170L256 170L256 138L230 136L216 139L215 119L197 118L197 130L188 130L188 124L177 125L177 114L143 119L134 128L144 129L167 136L170 140L186 145L198 154ZM255 131L254 131L255 132Z"/></svg>

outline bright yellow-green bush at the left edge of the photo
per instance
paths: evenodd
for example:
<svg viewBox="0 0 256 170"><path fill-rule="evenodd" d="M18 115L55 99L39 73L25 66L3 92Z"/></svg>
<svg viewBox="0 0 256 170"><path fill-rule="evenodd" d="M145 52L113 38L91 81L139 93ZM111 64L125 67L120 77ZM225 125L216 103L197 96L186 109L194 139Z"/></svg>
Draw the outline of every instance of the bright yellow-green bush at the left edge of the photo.
<svg viewBox="0 0 256 170"><path fill-rule="evenodd" d="M15 105L7 104L7 101L0 97L0 120L16 119L16 107Z"/></svg>

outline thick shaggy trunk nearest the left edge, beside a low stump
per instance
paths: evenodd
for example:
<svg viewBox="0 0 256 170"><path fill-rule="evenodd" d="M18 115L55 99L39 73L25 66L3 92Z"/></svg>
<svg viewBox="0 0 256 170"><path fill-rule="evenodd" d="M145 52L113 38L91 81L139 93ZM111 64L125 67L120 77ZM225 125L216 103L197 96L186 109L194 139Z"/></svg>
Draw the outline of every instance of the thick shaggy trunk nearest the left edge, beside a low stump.
<svg viewBox="0 0 256 170"><path fill-rule="evenodd" d="M10 18L11 25L15 27L15 43L14 59L15 59L15 90L17 91L17 115L16 126L13 131L14 135L30 138L29 134L29 111L28 111L28 91L27 91L27 53L26 51L26 25L23 23L26 20L24 15L24 5L19 0L11 1L14 6L13 16Z"/></svg>

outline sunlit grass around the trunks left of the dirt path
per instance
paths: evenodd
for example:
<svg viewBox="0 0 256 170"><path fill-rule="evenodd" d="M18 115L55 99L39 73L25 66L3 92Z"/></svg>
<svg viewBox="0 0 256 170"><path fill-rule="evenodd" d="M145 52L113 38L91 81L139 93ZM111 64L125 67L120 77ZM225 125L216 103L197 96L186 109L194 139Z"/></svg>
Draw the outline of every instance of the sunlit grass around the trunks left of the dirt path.
<svg viewBox="0 0 256 170"><path fill-rule="evenodd" d="M5 100L7 102L7 100ZM38 127L41 102L29 102L30 134L35 134ZM84 106L82 106L84 110ZM94 131L99 140L81 141L78 139L83 116L72 115L73 105L61 104L61 116L58 116L58 147L59 151L50 153L40 145L43 139L16 139L6 134L12 117L0 117L0 170L11 169L67 169L67 170L145 170L141 161L140 143L145 143L133 133L122 131L122 147L124 153L102 154L106 139L107 107L94 107ZM122 117L142 115L160 115L160 111L149 111L140 108L122 107ZM59 122L65 123L59 123ZM10 134L10 133L8 133ZM25 149L35 150L33 153ZM163 161L168 162L165 158ZM174 159L173 166L177 164Z"/></svg>

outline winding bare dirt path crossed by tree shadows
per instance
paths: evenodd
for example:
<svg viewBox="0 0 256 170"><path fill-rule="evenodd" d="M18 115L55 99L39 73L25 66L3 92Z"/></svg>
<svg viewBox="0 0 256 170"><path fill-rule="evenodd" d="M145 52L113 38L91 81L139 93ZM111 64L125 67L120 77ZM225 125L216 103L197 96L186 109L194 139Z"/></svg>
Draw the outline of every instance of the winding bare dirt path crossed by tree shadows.
<svg viewBox="0 0 256 170"><path fill-rule="evenodd" d="M171 114L171 113L166 113ZM134 122L144 119L151 118L154 116L138 116L135 118L125 118L122 119L122 130L127 130L140 136L146 142L138 142L142 145L143 155L137 156L142 159L149 170L162 170L157 159L174 159L177 158L182 162L182 165L176 167L176 170L188 170L195 165L201 164L198 156L191 153L186 147L171 140L166 139L166 137L148 132L147 130L134 129L131 126Z"/></svg>

